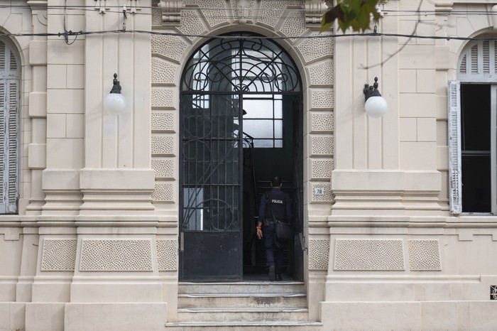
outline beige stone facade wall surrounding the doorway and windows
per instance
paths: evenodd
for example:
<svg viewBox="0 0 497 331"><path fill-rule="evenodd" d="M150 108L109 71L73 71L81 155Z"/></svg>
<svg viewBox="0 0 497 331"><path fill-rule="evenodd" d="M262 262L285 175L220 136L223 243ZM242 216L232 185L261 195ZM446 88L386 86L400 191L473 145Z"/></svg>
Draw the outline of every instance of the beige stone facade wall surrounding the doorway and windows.
<svg viewBox="0 0 497 331"><path fill-rule="evenodd" d="M129 4L71 0L89 9L64 12L55 7L62 0L17 2L32 7L0 9L5 33L58 33L64 18L67 30L116 30L125 18L111 8ZM23 65L21 197L19 215L0 217L0 330L77 330L85 315L111 324L135 314L150 327L176 318L185 60L203 36L230 31L317 36L309 23L315 13L293 10L305 1L249 1L265 14L242 20L236 1L183 2L175 11L140 1L143 8L126 18L129 29L174 36L70 36L70 45L59 36L11 38ZM419 4L387 1L378 32L493 33L490 18L455 14L490 11L488 1L422 1L432 15L392 14ZM322 320L325 330L496 328L488 318L495 310L488 289L497 285L495 219L448 212L447 80L456 78L466 42L278 43L304 87L310 320ZM114 72L128 102L120 116L102 112ZM364 112L362 89L375 76L389 106L381 119ZM111 313L102 315L102 307Z"/></svg>

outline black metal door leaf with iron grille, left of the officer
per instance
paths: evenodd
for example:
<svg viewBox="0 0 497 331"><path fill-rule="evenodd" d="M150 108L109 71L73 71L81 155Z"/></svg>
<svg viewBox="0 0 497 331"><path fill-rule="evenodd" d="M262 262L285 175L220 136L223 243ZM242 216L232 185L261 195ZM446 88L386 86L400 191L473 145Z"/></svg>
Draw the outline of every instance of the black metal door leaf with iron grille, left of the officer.
<svg viewBox="0 0 497 331"><path fill-rule="evenodd" d="M239 115L236 94L183 94L182 280L241 280Z"/></svg>

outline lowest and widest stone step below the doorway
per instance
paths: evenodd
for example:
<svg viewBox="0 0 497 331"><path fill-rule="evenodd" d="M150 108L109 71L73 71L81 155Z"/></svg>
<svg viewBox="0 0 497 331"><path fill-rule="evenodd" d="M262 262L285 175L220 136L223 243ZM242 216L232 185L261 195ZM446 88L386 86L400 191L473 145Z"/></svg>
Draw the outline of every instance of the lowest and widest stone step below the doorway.
<svg viewBox="0 0 497 331"><path fill-rule="evenodd" d="M168 331L323 331L320 322L169 322Z"/></svg>

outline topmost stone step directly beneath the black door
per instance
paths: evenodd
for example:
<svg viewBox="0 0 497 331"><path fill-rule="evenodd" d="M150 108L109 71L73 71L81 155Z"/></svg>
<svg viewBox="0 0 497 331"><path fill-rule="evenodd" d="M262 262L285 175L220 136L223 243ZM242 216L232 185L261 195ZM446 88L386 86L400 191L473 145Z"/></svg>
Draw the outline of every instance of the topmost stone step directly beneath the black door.
<svg viewBox="0 0 497 331"><path fill-rule="evenodd" d="M178 293L305 293L305 284L299 281L243 281L236 283L181 282Z"/></svg>

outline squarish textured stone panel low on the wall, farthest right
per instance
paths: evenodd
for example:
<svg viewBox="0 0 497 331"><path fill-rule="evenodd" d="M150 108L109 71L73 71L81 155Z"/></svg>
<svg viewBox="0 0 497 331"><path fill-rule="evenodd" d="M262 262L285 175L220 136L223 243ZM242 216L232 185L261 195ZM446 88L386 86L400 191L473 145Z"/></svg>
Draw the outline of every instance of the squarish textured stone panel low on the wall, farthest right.
<svg viewBox="0 0 497 331"><path fill-rule="evenodd" d="M408 240L408 247L410 270L442 270L438 240Z"/></svg>

